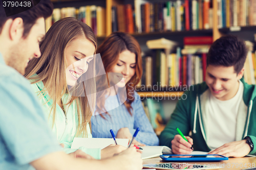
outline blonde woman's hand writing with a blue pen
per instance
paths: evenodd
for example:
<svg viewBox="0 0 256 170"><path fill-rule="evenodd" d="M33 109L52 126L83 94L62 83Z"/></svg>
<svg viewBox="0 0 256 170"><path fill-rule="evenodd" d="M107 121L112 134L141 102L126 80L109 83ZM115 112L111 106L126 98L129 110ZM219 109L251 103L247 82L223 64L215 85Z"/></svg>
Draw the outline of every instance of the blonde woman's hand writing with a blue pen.
<svg viewBox="0 0 256 170"><path fill-rule="evenodd" d="M113 157L115 154L126 150L122 145L110 144L108 147L101 150L101 159Z"/></svg>

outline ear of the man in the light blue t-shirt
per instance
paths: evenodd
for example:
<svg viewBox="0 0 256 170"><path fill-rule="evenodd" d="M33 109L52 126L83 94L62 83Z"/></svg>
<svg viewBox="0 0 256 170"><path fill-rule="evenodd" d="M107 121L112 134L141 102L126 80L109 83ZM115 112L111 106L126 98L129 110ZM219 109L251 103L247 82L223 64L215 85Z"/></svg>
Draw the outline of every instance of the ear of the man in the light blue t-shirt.
<svg viewBox="0 0 256 170"><path fill-rule="evenodd" d="M15 18L10 26L9 35L10 39L13 41L17 41L23 37L24 27L23 27L23 19Z"/></svg>

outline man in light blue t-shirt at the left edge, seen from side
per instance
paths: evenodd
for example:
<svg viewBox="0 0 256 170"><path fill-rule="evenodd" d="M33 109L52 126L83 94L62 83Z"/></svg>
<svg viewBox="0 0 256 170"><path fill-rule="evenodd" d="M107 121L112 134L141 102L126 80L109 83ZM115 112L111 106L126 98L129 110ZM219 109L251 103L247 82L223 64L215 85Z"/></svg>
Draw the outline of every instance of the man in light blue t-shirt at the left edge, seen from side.
<svg viewBox="0 0 256 170"><path fill-rule="evenodd" d="M141 169L141 154L135 147L104 160L84 159L90 156L79 150L72 155L61 151L23 77L29 60L41 55L44 19L52 14L53 5L41 0L24 12L24 8L7 5L0 1L0 169L28 169L30 165L36 169ZM16 14L7 17L6 13Z"/></svg>

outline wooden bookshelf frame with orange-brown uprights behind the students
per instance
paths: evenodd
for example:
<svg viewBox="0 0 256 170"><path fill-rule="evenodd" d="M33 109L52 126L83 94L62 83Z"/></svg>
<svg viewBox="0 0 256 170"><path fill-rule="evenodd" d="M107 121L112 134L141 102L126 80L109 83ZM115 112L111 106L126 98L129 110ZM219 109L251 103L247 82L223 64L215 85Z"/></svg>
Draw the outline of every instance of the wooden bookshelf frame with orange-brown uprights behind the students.
<svg viewBox="0 0 256 170"><path fill-rule="evenodd" d="M95 0L95 1L91 1L91 0L51 0L54 5L56 5L58 8L61 7L61 4L75 4L75 6L79 5L80 6L84 6L84 4L86 5L100 5L105 7L106 10L106 36L110 35L112 33L112 6L116 6L116 5L120 5L120 4L133 4L134 0ZM148 2L158 2L156 0L148 0ZM166 1L165 1L166 2ZM133 4L134 5L134 4ZM67 6L68 7L68 6ZM229 34L231 32L233 32L230 28L222 28L219 29L218 28L218 2L217 0L212 0L212 29L208 29L208 30L190 30L190 31L163 31L163 32L151 32L151 33L134 33L131 34L132 36L134 36L140 43L140 45L144 45L145 46L145 41L148 39L157 39L157 38L161 38L161 37L165 37L165 38L179 38L182 40L182 38L184 36L212 36L213 40L215 41L216 39L220 38L223 34ZM246 32L246 31L254 31L256 30L256 26L251 26L251 27L241 27L241 29L239 31L235 31L235 32ZM99 40L99 43L103 41L103 39L106 36L101 36L101 37L97 37L97 39ZM176 40L174 38L174 40ZM173 39L172 39L173 40ZM179 95L181 96L183 94L183 91L138 91L139 95L141 96L154 96L155 94L161 94L161 95Z"/></svg>

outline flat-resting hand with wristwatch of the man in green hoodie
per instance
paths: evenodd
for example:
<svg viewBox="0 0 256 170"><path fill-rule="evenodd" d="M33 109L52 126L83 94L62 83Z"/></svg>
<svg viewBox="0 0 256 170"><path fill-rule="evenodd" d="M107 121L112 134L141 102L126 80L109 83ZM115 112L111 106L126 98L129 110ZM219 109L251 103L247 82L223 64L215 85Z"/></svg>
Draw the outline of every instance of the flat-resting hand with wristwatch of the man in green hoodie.
<svg viewBox="0 0 256 170"><path fill-rule="evenodd" d="M214 151L209 152L208 154L218 154L226 157L244 157L249 154L251 148L246 139L240 141L233 141L225 143L220 148L215 149Z"/></svg>

